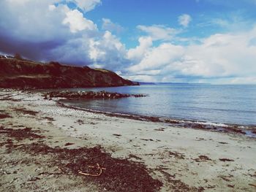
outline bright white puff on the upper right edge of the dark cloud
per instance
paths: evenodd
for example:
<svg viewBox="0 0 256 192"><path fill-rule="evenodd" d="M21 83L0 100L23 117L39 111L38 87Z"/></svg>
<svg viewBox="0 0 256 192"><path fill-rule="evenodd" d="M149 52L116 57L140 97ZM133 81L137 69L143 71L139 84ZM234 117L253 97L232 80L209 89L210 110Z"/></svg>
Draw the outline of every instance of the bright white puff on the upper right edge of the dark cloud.
<svg viewBox="0 0 256 192"><path fill-rule="evenodd" d="M97 26L91 20L84 18L83 13L78 11L78 9L69 10L66 15L67 17L64 18L63 24L69 24L69 28L72 33L83 30L97 30Z"/></svg>

